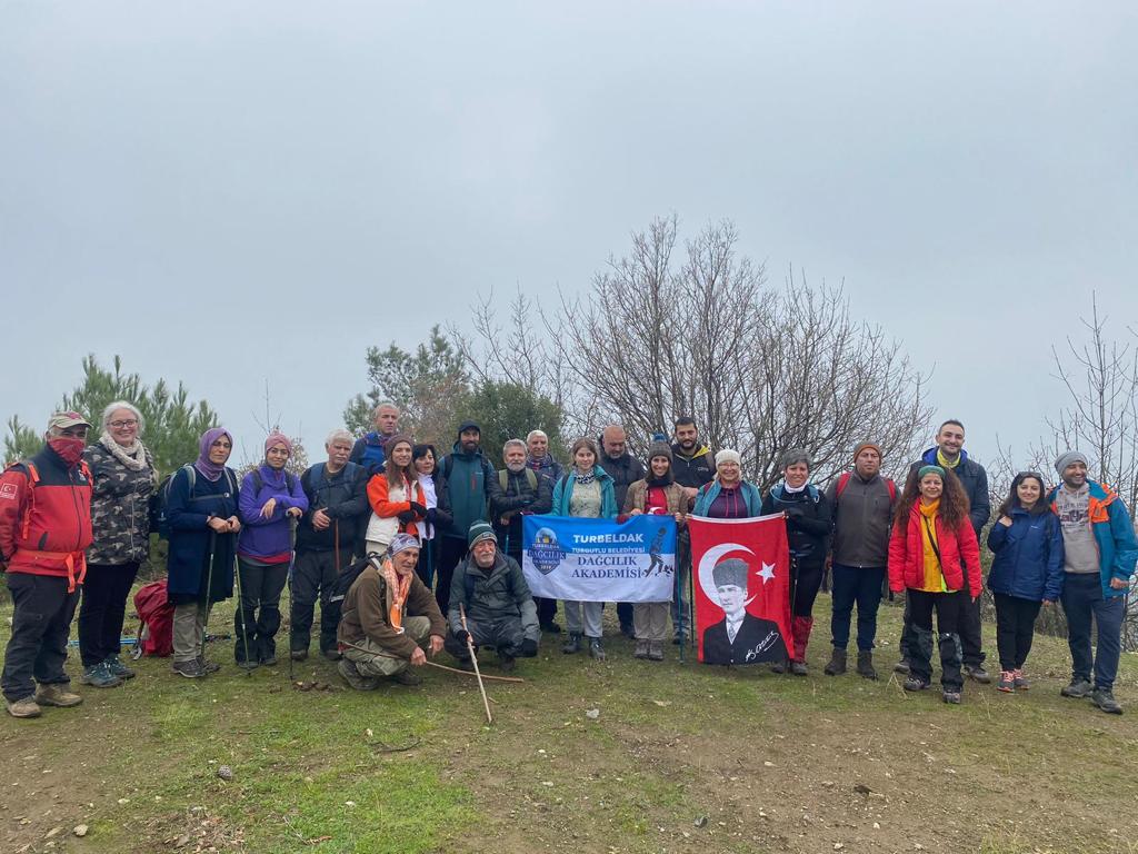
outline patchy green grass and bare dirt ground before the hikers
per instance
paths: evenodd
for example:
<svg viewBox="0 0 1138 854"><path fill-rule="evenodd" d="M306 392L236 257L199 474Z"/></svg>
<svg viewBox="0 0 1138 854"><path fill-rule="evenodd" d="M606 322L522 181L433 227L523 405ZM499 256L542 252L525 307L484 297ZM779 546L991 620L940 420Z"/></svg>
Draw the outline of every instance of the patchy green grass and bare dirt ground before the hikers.
<svg viewBox="0 0 1138 854"><path fill-rule="evenodd" d="M53 849L84 852L1131 854L1138 723L1058 697L1063 641L1037 639L1030 692L970 684L948 707L888 679L892 646L879 682L823 676L827 607L820 597L807 679L682 665L675 648L637 662L619 638L597 665L547 635L520 665L526 684L489 684L493 726L473 680L438 671L421 688L302 692L287 665L238 671L228 643L206 680L143 660L123 688L81 688L77 709L3 718L0 816L14 821L0 849L39 851L59 827ZM887 644L899 617L883 609ZM1124 656L1127 705L1135 665ZM295 675L340 685L319 658Z"/></svg>

